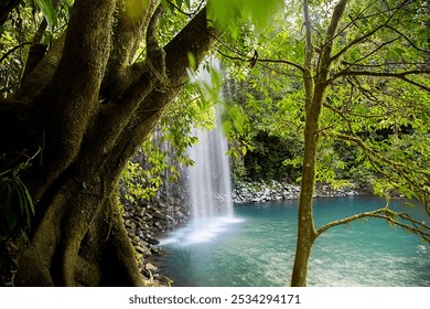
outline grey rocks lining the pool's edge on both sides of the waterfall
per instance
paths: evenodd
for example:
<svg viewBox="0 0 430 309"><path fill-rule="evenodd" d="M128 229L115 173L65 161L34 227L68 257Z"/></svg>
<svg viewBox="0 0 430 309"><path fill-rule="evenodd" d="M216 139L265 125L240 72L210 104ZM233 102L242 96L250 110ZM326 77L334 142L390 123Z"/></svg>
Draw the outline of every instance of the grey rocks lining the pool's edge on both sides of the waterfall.
<svg viewBox="0 0 430 309"><path fill-rule="evenodd" d="M123 221L131 243L136 248L142 277L148 285L169 285L169 279L163 277L152 258L162 253L158 237L165 235L183 224L191 216L186 193L179 190L174 196L161 191L151 202L129 202L121 199L123 205ZM315 198L353 196L363 192L354 187L333 190L329 184L319 184ZM300 187L284 184L277 181L236 183L232 198L235 204L257 204L270 201L283 201L299 199Z"/></svg>

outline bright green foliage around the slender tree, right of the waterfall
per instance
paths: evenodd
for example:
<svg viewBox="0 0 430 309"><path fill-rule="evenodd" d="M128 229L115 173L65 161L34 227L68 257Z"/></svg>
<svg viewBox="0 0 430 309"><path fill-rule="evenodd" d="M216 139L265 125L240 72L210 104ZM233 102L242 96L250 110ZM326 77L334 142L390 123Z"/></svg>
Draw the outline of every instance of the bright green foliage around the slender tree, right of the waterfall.
<svg viewBox="0 0 430 309"><path fill-rule="evenodd" d="M347 3L331 42L318 180L336 184L353 180L383 194L429 202L430 47L423 3ZM333 6L310 3L312 74L320 70ZM258 35L245 31L234 46L221 47L227 72L236 78L229 85L230 100L252 124L250 136L266 131L301 139L307 34L302 15L301 3L291 1ZM259 55L252 68L246 65L250 50ZM284 158L284 164L300 167L300 153Z"/></svg>

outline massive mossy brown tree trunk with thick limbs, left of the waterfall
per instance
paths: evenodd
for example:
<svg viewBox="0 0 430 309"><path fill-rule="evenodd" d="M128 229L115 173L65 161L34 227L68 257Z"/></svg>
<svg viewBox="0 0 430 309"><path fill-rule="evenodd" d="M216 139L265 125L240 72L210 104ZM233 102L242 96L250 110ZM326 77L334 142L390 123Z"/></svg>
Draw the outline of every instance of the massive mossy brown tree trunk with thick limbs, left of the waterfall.
<svg viewBox="0 0 430 309"><path fill-rule="evenodd" d="M202 61L215 34L203 10L161 49L155 4L75 1L66 34L0 104L0 154L40 149L21 175L36 215L17 285L142 285L118 179L186 82L187 54ZM142 38L146 61L132 64Z"/></svg>

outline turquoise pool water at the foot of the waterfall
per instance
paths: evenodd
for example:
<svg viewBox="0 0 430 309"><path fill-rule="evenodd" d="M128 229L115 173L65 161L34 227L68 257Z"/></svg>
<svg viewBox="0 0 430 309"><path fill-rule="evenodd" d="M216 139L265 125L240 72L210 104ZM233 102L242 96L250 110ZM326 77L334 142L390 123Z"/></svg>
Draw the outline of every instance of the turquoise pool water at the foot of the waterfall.
<svg viewBox="0 0 430 309"><path fill-rule="evenodd" d="M384 206L377 198L315 201L318 227ZM402 207L398 202L398 207ZM423 207L407 209L419 220ZM162 273L173 286L288 286L294 258L297 202L235 207L235 219L191 222L162 239ZM206 228L207 227L207 228ZM309 286L430 286L430 246L385 221L337 226L312 251Z"/></svg>

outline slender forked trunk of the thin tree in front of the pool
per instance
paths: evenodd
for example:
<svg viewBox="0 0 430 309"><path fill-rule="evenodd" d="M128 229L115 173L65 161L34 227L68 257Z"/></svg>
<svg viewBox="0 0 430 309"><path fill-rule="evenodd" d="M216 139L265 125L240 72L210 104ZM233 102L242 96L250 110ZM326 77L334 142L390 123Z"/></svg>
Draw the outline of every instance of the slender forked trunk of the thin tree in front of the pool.
<svg viewBox="0 0 430 309"><path fill-rule="evenodd" d="M333 36L338 21L343 14L347 0L341 0L334 8L331 23L327 28L326 40L321 47L318 66L313 68L314 56L312 43L312 25L309 14L309 3L303 1L303 14L307 29L307 49L303 66L303 82L305 89L305 127L302 181L300 188L298 238L294 265L291 275L291 286L305 287L308 278L308 264L312 246L318 237L313 220L313 193L316 179L316 152L320 135L320 116L329 85L327 75L331 65ZM312 76L314 72L314 76Z"/></svg>

